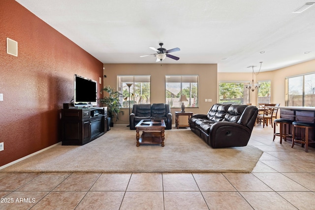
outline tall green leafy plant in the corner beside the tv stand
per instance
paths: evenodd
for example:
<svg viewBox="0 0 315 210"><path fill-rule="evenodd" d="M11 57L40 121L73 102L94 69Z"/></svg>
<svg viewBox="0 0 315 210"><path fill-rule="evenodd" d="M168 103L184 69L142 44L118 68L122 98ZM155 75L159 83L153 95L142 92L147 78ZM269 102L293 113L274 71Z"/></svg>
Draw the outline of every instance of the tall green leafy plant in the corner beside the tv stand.
<svg viewBox="0 0 315 210"><path fill-rule="evenodd" d="M119 97L122 94L119 91L115 91L110 86L106 86L101 91L105 91L108 93L108 96L104 96L103 98L99 99L99 102L102 103L104 106L107 106L107 117L110 118L109 124L111 127L114 126L113 118L116 118L116 121L119 120L119 113L123 111L120 110L122 104L119 101Z"/></svg>

